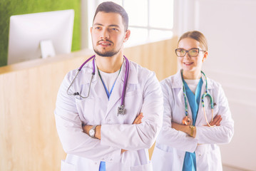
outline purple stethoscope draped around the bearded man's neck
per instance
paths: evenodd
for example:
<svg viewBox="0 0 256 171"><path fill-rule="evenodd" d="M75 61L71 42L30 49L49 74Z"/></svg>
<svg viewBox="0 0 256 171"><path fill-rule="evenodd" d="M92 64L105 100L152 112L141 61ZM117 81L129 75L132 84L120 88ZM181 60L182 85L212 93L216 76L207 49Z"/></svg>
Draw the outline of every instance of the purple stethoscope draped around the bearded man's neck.
<svg viewBox="0 0 256 171"><path fill-rule="evenodd" d="M129 61L128 58L126 58L126 56L123 56L126 59L126 76L125 76L125 81L123 84L123 92L122 92L122 98L121 98L121 105L118 107L118 115L124 115L125 114L125 108L124 108L124 98L125 98L125 93L126 93L126 86L127 86L127 80L128 80L128 75L129 75L129 69L130 69L130 65L129 65ZM83 68L83 66L88 63L88 61L91 61L91 59L93 59L93 72L91 73L91 81L93 80L93 76L95 75L95 55L91 56L90 58L88 58L79 68L78 71L76 73L75 78L73 78L73 81L71 82L70 86L68 87L71 88L73 82L75 81L76 77L78 76L78 73L80 73L81 69ZM91 81L90 81L90 86L88 89L88 95L86 97L83 97L83 95L81 95L81 93L75 92L75 93L68 93L68 90L66 91L66 93L68 95L79 95L81 98L88 98L89 94L90 94L90 90L91 90Z"/></svg>

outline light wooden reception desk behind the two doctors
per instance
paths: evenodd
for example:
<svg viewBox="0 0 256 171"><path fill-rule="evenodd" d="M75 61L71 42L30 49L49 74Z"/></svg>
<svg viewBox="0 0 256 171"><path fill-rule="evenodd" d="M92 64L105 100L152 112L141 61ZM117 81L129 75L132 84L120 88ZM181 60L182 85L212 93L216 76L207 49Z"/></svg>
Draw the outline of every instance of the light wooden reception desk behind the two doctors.
<svg viewBox="0 0 256 171"><path fill-rule="evenodd" d="M134 46L125 55L161 81L177 71L176 43L172 38ZM66 73L92 54L82 50L0 67L0 170L60 170L66 154L53 115L56 95Z"/></svg>

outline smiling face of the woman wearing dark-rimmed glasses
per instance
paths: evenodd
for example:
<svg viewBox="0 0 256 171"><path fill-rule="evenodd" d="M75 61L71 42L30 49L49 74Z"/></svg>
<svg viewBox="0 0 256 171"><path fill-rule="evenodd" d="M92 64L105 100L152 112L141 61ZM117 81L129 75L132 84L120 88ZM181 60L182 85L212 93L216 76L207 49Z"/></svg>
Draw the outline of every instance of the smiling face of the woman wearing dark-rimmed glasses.
<svg viewBox="0 0 256 171"><path fill-rule="evenodd" d="M207 58L208 52L202 49L200 43L193 38L183 38L178 43L178 48L183 48L189 51L191 48L199 48L198 56L190 57L188 53L184 57L178 57L178 63L183 68L183 72L198 72L201 71L203 61Z"/></svg>

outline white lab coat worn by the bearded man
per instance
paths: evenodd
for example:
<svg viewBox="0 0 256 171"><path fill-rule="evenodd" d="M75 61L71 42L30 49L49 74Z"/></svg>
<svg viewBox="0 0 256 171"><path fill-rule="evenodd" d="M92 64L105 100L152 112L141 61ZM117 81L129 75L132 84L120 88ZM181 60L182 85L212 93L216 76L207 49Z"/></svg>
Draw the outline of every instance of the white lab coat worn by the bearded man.
<svg viewBox="0 0 256 171"><path fill-rule="evenodd" d="M88 94L93 63L83 66L69 93ZM93 76L90 95L83 99L67 95L66 90L76 76L69 72L61 84L56 101L56 128L67 153L61 170L93 171L100 162L106 162L106 170L152 170L148 156L150 148L163 123L163 94L155 73L130 61L130 71L124 100L125 115L117 115L126 73L123 63L110 99L98 76ZM139 113L142 123L133 125ZM82 123L101 125L101 140L83 133ZM121 149L128 150L121 154Z"/></svg>

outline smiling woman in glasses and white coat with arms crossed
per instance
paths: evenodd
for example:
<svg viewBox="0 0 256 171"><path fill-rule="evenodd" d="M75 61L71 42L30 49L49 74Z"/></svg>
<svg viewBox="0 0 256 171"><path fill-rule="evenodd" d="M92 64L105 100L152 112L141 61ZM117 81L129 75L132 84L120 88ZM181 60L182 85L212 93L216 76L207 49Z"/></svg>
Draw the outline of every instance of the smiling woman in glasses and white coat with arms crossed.
<svg viewBox="0 0 256 171"><path fill-rule="evenodd" d="M153 170L220 171L217 144L230 142L234 122L222 87L201 71L208 57L205 36L184 33L175 53L181 70L161 82L163 128L155 143Z"/></svg>

